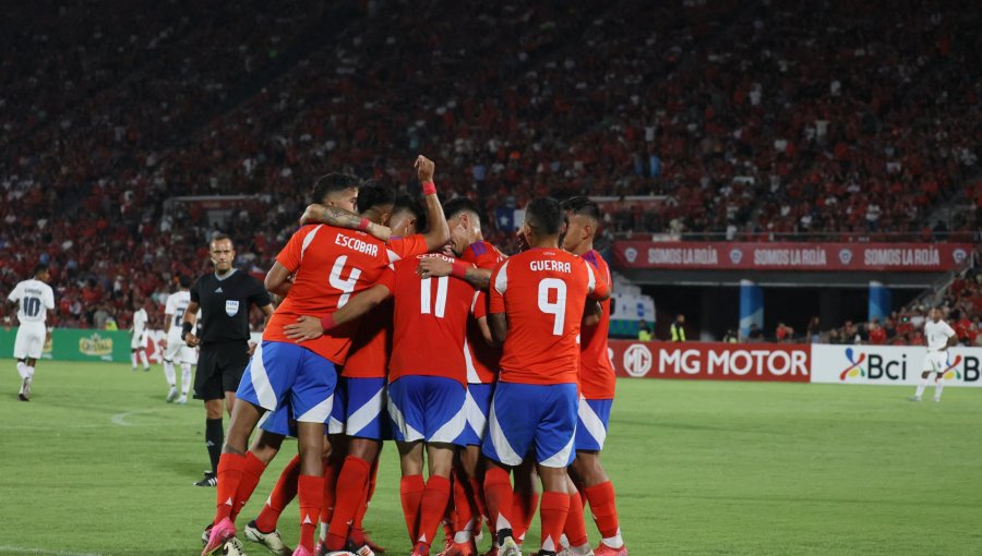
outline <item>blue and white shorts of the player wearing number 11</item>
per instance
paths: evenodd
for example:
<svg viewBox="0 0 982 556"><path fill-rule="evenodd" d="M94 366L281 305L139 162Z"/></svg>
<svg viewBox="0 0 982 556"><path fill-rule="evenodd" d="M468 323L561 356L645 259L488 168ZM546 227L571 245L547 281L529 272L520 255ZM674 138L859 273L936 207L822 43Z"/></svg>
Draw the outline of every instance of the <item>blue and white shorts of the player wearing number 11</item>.
<svg viewBox="0 0 982 556"><path fill-rule="evenodd" d="M467 389L442 376L400 376L388 385L388 416L396 442L456 443L464 432Z"/></svg>

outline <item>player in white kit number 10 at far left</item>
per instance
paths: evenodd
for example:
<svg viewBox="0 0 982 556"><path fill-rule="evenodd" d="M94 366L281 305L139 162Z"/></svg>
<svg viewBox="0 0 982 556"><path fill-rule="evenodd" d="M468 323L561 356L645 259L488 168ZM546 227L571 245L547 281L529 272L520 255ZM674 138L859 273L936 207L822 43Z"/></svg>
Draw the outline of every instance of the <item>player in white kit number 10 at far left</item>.
<svg viewBox="0 0 982 556"><path fill-rule="evenodd" d="M17 360L17 374L21 376L21 390L17 399L31 400L31 383L34 370L40 359L50 329L45 326L48 316L53 317L55 292L48 286L51 274L47 265L37 265L33 278L17 282L7 301L13 309L17 305L17 336L14 339L14 359ZM4 327L10 329L10 315L3 316Z"/></svg>

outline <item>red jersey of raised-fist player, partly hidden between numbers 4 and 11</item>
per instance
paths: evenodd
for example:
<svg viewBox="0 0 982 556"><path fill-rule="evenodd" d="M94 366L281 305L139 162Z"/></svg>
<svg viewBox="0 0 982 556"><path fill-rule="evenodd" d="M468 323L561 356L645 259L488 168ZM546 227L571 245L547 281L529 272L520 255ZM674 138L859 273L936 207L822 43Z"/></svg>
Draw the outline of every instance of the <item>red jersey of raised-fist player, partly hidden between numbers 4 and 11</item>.
<svg viewBox="0 0 982 556"><path fill-rule="evenodd" d="M393 262L422 255L427 251L427 239L420 233L388 240L388 258ZM385 377L388 354L392 353L392 300L388 299L361 318L361 327L351 342L351 354L345 362L342 376Z"/></svg>

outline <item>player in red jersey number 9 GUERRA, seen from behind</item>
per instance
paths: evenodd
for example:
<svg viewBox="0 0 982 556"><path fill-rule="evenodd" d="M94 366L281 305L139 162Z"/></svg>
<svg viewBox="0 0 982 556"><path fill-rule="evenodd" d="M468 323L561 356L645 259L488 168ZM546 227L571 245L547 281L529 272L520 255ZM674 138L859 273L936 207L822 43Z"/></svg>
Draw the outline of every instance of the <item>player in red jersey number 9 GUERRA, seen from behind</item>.
<svg viewBox="0 0 982 556"><path fill-rule="evenodd" d="M587 262L559 247L562 231L558 202L530 202L519 231L530 249L491 276L488 322L503 352L482 450L491 460L484 496L501 556L520 554L510 520L508 471L526 456L536 458L542 480L538 554L554 556L559 549L570 510L566 467L574 458L580 321L588 300L610 297Z"/></svg>

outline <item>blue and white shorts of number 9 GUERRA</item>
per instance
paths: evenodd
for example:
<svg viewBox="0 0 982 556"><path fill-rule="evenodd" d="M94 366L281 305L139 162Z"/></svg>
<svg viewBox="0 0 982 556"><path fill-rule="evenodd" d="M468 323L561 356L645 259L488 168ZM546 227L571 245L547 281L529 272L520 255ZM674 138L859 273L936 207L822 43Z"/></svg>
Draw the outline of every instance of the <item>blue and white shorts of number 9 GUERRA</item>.
<svg viewBox="0 0 982 556"><path fill-rule="evenodd" d="M549 468L564 468L576 452L576 385L498 383L484 456L505 466L517 466L531 455Z"/></svg>

